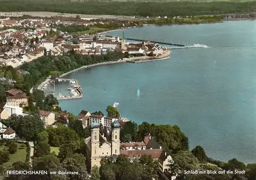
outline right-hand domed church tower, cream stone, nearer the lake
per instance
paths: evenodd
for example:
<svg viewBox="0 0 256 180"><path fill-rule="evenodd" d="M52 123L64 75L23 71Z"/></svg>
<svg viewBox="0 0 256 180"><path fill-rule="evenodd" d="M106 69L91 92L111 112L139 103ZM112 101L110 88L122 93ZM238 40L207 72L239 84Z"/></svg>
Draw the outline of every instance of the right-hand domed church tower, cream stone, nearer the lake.
<svg viewBox="0 0 256 180"><path fill-rule="evenodd" d="M112 124L111 155L120 155L120 128L119 121L114 121Z"/></svg>

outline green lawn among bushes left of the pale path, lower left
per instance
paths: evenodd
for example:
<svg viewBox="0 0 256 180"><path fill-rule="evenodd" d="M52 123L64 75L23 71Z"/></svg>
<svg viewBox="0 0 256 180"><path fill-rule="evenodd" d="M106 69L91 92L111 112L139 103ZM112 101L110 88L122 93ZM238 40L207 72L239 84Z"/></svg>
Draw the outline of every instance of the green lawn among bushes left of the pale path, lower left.
<svg viewBox="0 0 256 180"><path fill-rule="evenodd" d="M19 149L19 146L21 145L20 143L16 143L18 148L17 148L17 152L14 154L10 154L9 158L10 160L6 163L4 163L3 165L6 167L11 166L13 163L17 162L17 161L22 161L25 162L26 161L26 156L27 156L27 152L26 152L26 147L24 149ZM4 144L0 145L0 149L4 149L6 146ZM8 149L8 147L6 147Z"/></svg>

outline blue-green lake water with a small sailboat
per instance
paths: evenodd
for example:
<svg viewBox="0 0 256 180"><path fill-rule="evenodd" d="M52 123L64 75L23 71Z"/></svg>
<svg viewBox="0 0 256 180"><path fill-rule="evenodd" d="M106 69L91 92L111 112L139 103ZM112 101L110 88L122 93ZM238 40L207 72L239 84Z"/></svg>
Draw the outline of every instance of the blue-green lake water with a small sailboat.
<svg viewBox="0 0 256 180"><path fill-rule="evenodd" d="M105 112L119 102L121 115L137 123L179 125L190 148L201 145L209 157L256 162L256 21L124 32L126 37L212 48L174 49L164 61L98 66L67 75L78 80L84 97L60 101L62 109L75 115L81 110ZM109 35L122 36L122 31ZM66 88L57 84L56 93Z"/></svg>

